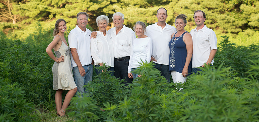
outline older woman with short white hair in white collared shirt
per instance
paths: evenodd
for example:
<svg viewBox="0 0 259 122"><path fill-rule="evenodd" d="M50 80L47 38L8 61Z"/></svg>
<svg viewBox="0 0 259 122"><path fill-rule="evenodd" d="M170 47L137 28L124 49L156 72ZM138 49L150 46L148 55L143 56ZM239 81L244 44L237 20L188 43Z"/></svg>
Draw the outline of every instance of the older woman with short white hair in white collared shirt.
<svg viewBox="0 0 259 122"><path fill-rule="evenodd" d="M110 37L110 34L107 34L106 28L109 23L108 16L101 15L96 18L97 26L99 31L97 32L96 38L91 38L91 55L95 66L103 66L106 63L107 66L110 66L108 70L114 70L114 52L113 52L113 43ZM95 69L97 74L100 74L100 70ZM111 75L114 75L114 72L111 72Z"/></svg>

